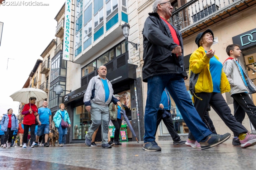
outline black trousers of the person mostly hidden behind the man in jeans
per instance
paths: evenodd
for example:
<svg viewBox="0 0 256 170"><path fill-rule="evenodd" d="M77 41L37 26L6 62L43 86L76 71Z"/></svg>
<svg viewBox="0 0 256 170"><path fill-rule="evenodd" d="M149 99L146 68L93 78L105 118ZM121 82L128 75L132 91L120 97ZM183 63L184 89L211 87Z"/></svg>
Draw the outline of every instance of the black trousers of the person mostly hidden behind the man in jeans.
<svg viewBox="0 0 256 170"><path fill-rule="evenodd" d="M172 137L172 140L175 141L175 142L180 141L180 136L174 130L172 118L171 117L169 117L168 119L163 118L162 110L157 111L156 131L157 131L158 125L160 124L161 120L163 120L163 123L167 127L167 130L169 131L169 133ZM155 132L155 136L156 136L156 132Z"/></svg>

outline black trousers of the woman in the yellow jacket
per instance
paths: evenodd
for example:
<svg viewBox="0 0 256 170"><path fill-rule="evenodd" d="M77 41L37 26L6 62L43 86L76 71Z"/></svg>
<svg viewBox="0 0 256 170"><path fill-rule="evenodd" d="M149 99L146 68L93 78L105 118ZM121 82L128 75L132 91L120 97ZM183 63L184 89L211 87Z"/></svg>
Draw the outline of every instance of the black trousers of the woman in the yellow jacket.
<svg viewBox="0 0 256 170"><path fill-rule="evenodd" d="M205 111L207 109L208 104L212 106L213 110L217 112L219 117L224 121L224 123L228 126L228 128L237 136L241 133L247 132L246 128L238 122L235 117L231 114L231 110L228 107L227 102L223 98L221 93L216 92L200 92L195 94L195 109L198 112L199 116L203 119ZM195 140L194 136L189 131L189 139Z"/></svg>

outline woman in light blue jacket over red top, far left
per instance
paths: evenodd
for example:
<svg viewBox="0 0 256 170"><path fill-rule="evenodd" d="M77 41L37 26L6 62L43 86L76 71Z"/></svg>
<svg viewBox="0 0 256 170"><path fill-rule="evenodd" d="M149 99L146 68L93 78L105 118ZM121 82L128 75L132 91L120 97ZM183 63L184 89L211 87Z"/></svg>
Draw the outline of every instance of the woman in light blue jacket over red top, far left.
<svg viewBox="0 0 256 170"><path fill-rule="evenodd" d="M13 132L15 129L19 128L18 119L13 113L13 109L8 109L2 120L1 120L1 130L4 131L4 146L11 146L11 139L13 138ZM9 137L8 137L9 136Z"/></svg>

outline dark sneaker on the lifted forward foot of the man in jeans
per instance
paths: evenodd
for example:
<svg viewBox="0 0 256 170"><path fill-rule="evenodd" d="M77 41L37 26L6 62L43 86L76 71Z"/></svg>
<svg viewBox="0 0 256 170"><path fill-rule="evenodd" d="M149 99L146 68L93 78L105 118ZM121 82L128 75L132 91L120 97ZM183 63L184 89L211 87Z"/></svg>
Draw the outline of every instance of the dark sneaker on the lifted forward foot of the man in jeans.
<svg viewBox="0 0 256 170"><path fill-rule="evenodd" d="M226 133L224 135L210 134L204 140L200 141L200 146L202 150L208 149L223 143L224 141L228 140L230 136L230 133Z"/></svg>

